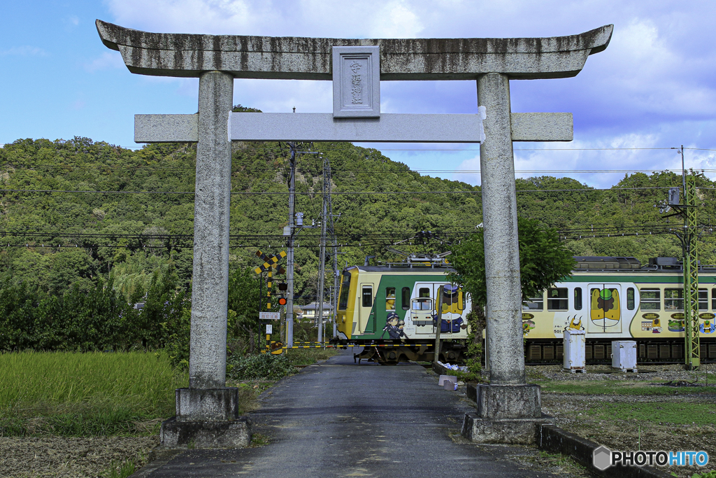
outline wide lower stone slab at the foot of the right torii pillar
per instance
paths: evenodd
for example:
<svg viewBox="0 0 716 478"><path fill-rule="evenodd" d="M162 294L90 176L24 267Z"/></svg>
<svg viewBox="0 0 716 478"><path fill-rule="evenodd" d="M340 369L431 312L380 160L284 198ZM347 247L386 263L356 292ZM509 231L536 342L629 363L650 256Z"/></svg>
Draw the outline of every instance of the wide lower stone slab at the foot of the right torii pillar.
<svg viewBox="0 0 716 478"><path fill-rule="evenodd" d="M465 414L462 435L475 443L534 444L543 424L552 424L551 416L526 419L485 419Z"/></svg>

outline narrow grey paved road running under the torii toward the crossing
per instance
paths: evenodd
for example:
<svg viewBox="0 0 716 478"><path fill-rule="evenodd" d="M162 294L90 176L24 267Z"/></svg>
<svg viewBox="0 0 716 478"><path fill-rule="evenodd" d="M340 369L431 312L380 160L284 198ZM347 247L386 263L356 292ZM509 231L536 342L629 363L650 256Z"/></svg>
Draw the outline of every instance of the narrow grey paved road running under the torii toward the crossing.
<svg viewBox="0 0 716 478"><path fill-rule="evenodd" d="M355 365L349 350L284 379L251 414L266 446L188 450L142 478L538 477L505 448L453 441L474 410L419 365ZM458 440L460 441L460 440ZM155 467L160 462L155 464Z"/></svg>

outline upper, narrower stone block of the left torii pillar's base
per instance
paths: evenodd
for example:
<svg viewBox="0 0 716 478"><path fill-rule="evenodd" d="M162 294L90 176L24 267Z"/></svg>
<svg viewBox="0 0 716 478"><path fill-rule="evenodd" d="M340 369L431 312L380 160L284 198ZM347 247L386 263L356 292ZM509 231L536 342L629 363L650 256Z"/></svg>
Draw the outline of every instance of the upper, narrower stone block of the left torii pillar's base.
<svg viewBox="0 0 716 478"><path fill-rule="evenodd" d="M238 419L238 388L177 388L177 421Z"/></svg>

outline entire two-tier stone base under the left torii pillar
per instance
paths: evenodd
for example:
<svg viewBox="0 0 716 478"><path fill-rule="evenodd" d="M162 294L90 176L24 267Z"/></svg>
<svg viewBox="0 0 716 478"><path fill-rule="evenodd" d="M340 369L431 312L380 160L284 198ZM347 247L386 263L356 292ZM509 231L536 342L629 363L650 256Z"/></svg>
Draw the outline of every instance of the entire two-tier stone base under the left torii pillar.
<svg viewBox="0 0 716 478"><path fill-rule="evenodd" d="M166 448L241 448L251 420L238 416L238 388L177 388L177 415L162 423Z"/></svg>

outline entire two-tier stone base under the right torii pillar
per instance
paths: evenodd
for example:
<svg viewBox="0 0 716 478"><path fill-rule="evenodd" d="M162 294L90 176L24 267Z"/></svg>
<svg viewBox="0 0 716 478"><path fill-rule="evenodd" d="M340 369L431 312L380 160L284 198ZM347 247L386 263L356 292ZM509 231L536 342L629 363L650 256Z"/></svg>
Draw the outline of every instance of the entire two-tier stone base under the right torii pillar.
<svg viewBox="0 0 716 478"><path fill-rule="evenodd" d="M551 424L542 414L540 388L525 385L475 386L468 393L478 404L475 414L465 414L462 434L478 443L533 444L539 426Z"/></svg>

